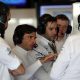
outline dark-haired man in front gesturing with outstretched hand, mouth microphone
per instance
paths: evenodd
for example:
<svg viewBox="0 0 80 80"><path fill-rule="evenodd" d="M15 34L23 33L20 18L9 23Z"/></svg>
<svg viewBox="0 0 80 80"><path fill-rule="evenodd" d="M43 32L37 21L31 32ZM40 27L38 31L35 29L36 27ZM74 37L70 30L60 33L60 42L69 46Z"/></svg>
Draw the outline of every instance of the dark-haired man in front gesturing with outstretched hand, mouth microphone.
<svg viewBox="0 0 80 80"><path fill-rule="evenodd" d="M16 45L13 52L23 61L26 68L25 74L17 76L16 80L39 80L37 73L42 64L47 62L49 57L36 60L33 48L36 44L36 28L31 25L18 25L14 31L13 41Z"/></svg>

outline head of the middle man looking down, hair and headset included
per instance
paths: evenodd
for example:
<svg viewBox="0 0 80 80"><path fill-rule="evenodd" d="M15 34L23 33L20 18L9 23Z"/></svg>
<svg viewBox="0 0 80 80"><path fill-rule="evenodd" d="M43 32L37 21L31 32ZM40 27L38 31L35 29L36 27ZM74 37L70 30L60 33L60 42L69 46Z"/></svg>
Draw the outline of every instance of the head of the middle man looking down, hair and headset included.
<svg viewBox="0 0 80 80"><path fill-rule="evenodd" d="M50 14L43 14L39 18L37 33L53 41L56 36L56 27L56 19Z"/></svg>

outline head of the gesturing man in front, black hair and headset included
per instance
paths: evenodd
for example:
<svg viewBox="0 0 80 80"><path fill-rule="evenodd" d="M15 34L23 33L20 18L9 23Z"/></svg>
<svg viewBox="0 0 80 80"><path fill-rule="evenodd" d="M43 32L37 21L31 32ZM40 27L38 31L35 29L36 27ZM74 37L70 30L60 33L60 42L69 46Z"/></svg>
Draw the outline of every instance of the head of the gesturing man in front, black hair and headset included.
<svg viewBox="0 0 80 80"><path fill-rule="evenodd" d="M32 50L36 44L36 28L28 24L18 25L13 34L13 42L26 50Z"/></svg>

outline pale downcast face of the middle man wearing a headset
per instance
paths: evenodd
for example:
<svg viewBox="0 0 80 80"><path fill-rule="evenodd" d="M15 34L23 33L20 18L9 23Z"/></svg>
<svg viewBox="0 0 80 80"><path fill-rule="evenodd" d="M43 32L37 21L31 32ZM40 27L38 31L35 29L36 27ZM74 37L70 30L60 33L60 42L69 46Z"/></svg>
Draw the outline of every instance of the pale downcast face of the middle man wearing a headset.
<svg viewBox="0 0 80 80"><path fill-rule="evenodd" d="M57 23L56 22L48 22L47 26L46 26L46 31L44 36L50 40L53 41L56 37L56 27L57 27Z"/></svg>

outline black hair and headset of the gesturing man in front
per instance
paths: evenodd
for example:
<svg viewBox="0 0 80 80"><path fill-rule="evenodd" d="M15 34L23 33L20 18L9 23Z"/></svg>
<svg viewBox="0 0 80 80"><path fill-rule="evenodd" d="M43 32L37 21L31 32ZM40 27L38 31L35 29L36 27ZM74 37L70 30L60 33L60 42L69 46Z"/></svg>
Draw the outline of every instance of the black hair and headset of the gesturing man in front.
<svg viewBox="0 0 80 80"><path fill-rule="evenodd" d="M21 44L25 33L30 34L32 32L36 32L36 28L34 26L28 24L18 25L13 34L14 44Z"/></svg>

